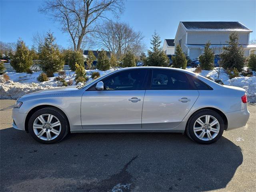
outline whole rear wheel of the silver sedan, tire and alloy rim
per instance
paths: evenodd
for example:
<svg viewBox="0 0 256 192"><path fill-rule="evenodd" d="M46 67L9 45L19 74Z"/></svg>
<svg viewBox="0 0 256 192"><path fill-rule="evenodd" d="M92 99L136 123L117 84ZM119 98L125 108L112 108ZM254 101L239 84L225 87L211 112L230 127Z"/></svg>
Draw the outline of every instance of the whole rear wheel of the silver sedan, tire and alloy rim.
<svg viewBox="0 0 256 192"><path fill-rule="evenodd" d="M216 122L216 120L218 122ZM202 130L200 127L202 127ZM188 137L200 144L212 144L216 142L220 139L223 132L223 118L217 112L209 109L202 109L195 112L189 118L186 126L186 134Z"/></svg>

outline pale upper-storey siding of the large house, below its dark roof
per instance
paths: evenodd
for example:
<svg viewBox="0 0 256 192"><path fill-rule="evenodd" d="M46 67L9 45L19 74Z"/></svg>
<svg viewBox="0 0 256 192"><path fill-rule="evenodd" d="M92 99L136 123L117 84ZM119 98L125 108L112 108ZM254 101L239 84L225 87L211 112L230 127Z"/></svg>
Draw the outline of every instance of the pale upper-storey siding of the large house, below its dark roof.
<svg viewBox="0 0 256 192"><path fill-rule="evenodd" d="M230 32L188 32L187 44L228 44ZM238 32L239 44L248 44L249 32Z"/></svg>

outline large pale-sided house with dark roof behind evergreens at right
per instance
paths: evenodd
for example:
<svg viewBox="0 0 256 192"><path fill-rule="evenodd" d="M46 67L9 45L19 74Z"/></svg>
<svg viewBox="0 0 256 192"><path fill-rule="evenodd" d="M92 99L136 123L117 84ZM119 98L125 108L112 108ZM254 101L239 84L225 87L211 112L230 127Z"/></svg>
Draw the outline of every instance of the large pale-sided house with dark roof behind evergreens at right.
<svg viewBox="0 0 256 192"><path fill-rule="evenodd" d="M252 30L240 22L180 22L174 39L175 49L179 44L191 59L195 59L204 52L206 42L210 41L214 54L218 54L223 46L228 46L231 32L238 33L245 56L256 50L255 45L249 45Z"/></svg>

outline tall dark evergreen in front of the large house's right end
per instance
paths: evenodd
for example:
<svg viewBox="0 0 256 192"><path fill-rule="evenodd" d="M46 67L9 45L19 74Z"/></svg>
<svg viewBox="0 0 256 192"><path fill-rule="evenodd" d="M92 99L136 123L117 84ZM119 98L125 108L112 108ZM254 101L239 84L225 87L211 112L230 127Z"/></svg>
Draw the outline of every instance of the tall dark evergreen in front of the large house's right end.
<svg viewBox="0 0 256 192"><path fill-rule="evenodd" d="M230 34L228 44L229 46L223 47L223 53L220 54L220 64L225 69L236 68L241 72L244 67L245 57L243 47L239 46L236 32Z"/></svg>

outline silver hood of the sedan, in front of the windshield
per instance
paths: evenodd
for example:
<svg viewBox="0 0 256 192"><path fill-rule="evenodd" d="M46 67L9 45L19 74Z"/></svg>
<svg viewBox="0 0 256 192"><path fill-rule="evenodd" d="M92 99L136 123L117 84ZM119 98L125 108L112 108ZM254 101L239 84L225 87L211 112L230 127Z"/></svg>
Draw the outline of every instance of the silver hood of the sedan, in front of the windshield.
<svg viewBox="0 0 256 192"><path fill-rule="evenodd" d="M68 87L58 87L53 89L40 90L36 92L32 92L20 97L18 100L27 99L30 97L45 97L45 96L54 96L61 94L68 94L73 91L78 91L78 86L68 86Z"/></svg>

